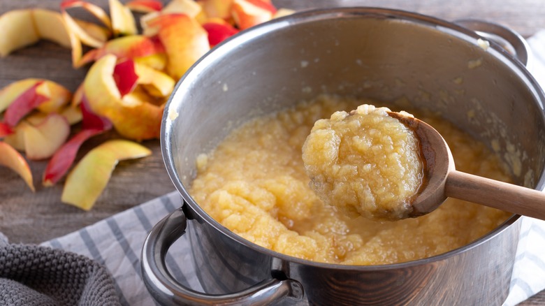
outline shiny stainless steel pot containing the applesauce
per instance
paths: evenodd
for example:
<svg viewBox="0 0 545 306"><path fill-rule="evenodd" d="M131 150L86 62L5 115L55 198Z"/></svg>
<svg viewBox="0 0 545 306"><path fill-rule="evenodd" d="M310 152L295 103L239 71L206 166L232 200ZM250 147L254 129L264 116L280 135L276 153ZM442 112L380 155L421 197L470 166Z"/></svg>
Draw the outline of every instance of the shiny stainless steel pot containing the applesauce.
<svg viewBox="0 0 545 306"><path fill-rule="evenodd" d="M298 13L242 32L178 83L161 145L184 205L143 247L143 275L163 305L500 305L520 219L446 254L393 265L314 263L264 249L210 218L187 191L195 159L256 115L320 93L379 101L406 97L505 154L518 184L543 189L542 90L499 45L433 17L378 8ZM206 293L178 284L165 255L189 235Z"/></svg>

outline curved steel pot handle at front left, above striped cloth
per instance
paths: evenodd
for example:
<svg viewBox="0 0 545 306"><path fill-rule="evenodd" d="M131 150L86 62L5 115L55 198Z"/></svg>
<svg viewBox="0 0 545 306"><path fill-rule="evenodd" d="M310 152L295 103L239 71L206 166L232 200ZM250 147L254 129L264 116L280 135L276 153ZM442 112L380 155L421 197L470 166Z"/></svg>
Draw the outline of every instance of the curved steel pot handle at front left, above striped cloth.
<svg viewBox="0 0 545 306"><path fill-rule="evenodd" d="M153 298L161 305L268 305L285 297L303 298L303 286L293 279L264 280L248 289L210 295L189 289L166 268L170 246L185 233L187 217L182 207L159 221L147 235L142 249L142 276Z"/></svg>

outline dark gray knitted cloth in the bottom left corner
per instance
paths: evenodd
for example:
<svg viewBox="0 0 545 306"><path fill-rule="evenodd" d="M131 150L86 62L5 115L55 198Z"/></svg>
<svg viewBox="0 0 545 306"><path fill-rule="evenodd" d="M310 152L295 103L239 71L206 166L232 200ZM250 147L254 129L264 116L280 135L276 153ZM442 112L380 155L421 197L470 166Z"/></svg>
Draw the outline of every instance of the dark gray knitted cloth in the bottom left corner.
<svg viewBox="0 0 545 306"><path fill-rule="evenodd" d="M0 237L1 238L1 237ZM110 274L91 259L0 239L0 305L120 305Z"/></svg>

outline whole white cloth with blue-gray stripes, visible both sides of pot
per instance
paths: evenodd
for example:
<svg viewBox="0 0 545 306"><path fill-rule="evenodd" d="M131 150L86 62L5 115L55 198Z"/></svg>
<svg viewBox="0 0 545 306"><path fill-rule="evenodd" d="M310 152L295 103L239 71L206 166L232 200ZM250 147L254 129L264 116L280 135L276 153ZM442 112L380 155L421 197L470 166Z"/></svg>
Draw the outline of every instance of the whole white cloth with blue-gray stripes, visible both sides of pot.
<svg viewBox="0 0 545 306"><path fill-rule="evenodd" d="M530 71L545 87L545 30L528 39L528 43L535 55ZM115 278L123 305L154 305L142 280L140 251L152 226L180 205L180 196L175 191L42 245L82 254L106 265ZM202 290L192 265L187 238L182 236L175 242L166 261L180 282ZM543 289L545 221L524 217L510 292L504 305L516 305Z"/></svg>

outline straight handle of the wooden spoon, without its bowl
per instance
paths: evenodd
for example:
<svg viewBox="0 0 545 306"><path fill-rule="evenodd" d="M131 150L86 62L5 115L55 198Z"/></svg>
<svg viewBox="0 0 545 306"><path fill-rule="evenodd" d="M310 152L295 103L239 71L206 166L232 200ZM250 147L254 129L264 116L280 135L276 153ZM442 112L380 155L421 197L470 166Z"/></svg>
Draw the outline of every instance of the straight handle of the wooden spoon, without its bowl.
<svg viewBox="0 0 545 306"><path fill-rule="evenodd" d="M545 220L542 191L454 170L446 177L445 195Z"/></svg>

